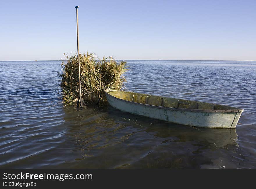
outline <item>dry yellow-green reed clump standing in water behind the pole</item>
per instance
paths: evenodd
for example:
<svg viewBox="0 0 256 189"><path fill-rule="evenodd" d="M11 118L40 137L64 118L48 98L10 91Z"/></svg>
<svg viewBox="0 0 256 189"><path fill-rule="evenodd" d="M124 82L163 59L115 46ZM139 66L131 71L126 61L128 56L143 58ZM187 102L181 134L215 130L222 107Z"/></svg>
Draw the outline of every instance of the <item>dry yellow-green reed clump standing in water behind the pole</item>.
<svg viewBox="0 0 256 189"><path fill-rule="evenodd" d="M80 54L81 93L87 104L106 102L103 89L120 90L126 81L123 76L127 71L125 61L118 63L112 57L103 57L102 60L96 58L93 53ZM61 66L63 69L59 75L62 78L60 87L63 103L72 104L79 96L77 56L66 56Z"/></svg>

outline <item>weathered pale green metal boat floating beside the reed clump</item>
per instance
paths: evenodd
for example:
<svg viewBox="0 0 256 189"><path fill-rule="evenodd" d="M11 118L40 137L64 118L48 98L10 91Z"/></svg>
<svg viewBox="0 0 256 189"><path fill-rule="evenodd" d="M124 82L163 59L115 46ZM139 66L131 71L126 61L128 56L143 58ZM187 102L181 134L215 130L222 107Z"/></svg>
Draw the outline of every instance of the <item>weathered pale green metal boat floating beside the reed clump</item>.
<svg viewBox="0 0 256 189"><path fill-rule="evenodd" d="M194 100L104 89L109 104L121 111L192 127L235 128L243 109Z"/></svg>

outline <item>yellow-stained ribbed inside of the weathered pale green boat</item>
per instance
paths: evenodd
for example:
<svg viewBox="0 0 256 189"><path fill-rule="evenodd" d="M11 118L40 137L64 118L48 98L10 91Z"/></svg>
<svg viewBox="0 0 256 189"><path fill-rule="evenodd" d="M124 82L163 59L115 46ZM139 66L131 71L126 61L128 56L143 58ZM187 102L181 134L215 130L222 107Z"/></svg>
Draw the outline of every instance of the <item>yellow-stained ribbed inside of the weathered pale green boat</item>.
<svg viewBox="0 0 256 189"><path fill-rule="evenodd" d="M133 93L126 91L106 91L110 95L115 96L123 100L128 100L131 102L137 102L141 104L148 104L161 107L172 107L172 108L186 108L186 109L216 109L216 110L226 110L226 109L239 109L236 107L219 105L208 102L200 102L194 100L184 100L178 98L168 98L163 96L155 96L142 93Z"/></svg>

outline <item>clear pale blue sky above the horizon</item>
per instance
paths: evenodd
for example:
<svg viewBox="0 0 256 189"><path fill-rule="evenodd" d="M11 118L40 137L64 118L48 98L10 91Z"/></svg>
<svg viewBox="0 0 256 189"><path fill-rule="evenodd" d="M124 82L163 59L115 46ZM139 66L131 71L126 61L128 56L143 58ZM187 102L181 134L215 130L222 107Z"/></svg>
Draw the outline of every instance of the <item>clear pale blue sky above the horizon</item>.
<svg viewBox="0 0 256 189"><path fill-rule="evenodd" d="M256 0L0 1L0 61L256 60Z"/></svg>

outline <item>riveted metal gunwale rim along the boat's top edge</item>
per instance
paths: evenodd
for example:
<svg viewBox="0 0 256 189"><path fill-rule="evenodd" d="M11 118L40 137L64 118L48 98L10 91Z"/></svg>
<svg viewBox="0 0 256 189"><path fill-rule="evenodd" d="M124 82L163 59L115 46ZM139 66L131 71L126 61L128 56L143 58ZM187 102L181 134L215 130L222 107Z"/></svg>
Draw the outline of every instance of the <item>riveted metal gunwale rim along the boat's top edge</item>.
<svg viewBox="0 0 256 189"><path fill-rule="evenodd" d="M112 91L118 91L118 90L111 90L111 91L106 91L108 89L104 89L104 92L107 93L108 95L110 95L111 97L117 99L117 100L121 100L127 103L131 103L131 104L135 104L135 105L144 105L147 107L152 107L152 108L158 108L158 109L166 109L166 110L174 110L174 111L190 111L190 112L202 112L202 113L238 113L238 112L243 112L243 109L224 109L224 110L218 110L218 109L188 109L188 108L174 108L174 107L164 107L164 106L155 106L155 105L150 105L150 104L143 104L143 103L139 103L139 102L132 102L129 100L124 100L122 98L117 98L111 94L109 94L109 92ZM127 91L124 91L127 92ZM140 93L143 94L143 93ZM165 98L169 98L169 97L165 97ZM180 99L180 100L184 100L184 99ZM195 101L195 100L191 100L191 101ZM196 101L196 102L200 102L200 101ZM209 102L206 102L209 103ZM217 105L217 104L216 104ZM236 107L233 107L236 108Z"/></svg>

